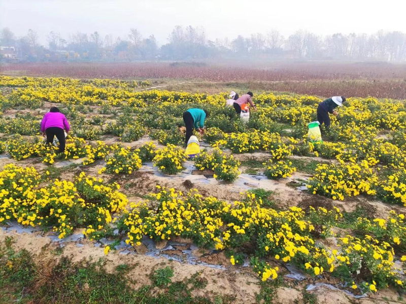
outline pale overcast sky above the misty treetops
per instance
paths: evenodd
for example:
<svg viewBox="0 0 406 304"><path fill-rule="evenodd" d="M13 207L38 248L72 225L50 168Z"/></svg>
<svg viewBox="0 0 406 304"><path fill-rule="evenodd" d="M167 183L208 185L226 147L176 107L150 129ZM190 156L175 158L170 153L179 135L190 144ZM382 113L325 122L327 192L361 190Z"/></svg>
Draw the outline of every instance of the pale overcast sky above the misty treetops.
<svg viewBox="0 0 406 304"><path fill-rule="evenodd" d="M0 0L0 28L17 36L32 28L45 44L51 30L66 40L77 31L126 39L135 27L164 44L175 25L202 26L211 40L272 28L285 36L297 29L323 35L406 32L405 12L404 0Z"/></svg>

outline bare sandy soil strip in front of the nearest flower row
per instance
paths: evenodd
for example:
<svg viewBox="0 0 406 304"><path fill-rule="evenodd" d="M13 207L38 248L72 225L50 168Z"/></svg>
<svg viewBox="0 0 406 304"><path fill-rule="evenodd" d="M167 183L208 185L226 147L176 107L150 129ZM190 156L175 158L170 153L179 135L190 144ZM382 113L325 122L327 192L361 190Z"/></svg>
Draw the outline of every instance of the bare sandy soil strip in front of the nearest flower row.
<svg viewBox="0 0 406 304"><path fill-rule="evenodd" d="M106 271L109 273L113 273L118 265L126 264L132 269L125 276L134 281L131 287L135 289L151 284L150 274L156 269L170 266L175 274L173 281L183 281L196 273L200 273L201 277L208 280L208 284L205 288L194 291L195 295L209 297L212 300L216 296L222 295L234 297L233 303L256 303L255 296L260 292L259 279L251 268L232 267L229 262L225 262L227 259L224 256L214 255L210 259L212 262L223 264L221 268L213 268L206 265L171 260L166 257L148 256L143 253L136 253L134 250L131 253L126 252L128 250L111 251L106 256L103 246L96 246L96 242L82 239L80 241L61 243L55 242L50 233L48 235L42 232L19 233L17 231L6 231L0 227L0 242L4 242L6 237L12 237L16 241L12 245L14 249L28 250L33 255L35 262L39 264L53 264L61 257L70 258L74 263L83 259L97 261L101 258L106 260ZM55 255L54 252L61 247L63 247L62 253ZM195 251L200 256L205 252L207 251L200 249ZM280 276L289 274L284 265L280 264L279 267L281 269ZM274 303L304 303L303 290L306 288L308 289L307 292L316 295L319 304L404 303L404 301L398 299L398 294L391 289L379 291L367 297L355 298L343 290L334 288L332 285L313 282L309 278L297 281L284 276L283 281L283 286L275 290Z"/></svg>

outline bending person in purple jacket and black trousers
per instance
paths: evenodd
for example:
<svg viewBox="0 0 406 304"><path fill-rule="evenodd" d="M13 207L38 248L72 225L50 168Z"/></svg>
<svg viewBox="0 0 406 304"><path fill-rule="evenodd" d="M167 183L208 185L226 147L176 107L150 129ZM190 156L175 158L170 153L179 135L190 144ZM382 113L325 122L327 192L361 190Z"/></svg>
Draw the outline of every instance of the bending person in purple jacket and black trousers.
<svg viewBox="0 0 406 304"><path fill-rule="evenodd" d="M47 136L47 144L54 141L54 136L58 138L59 141L59 152L65 150L65 132L69 132L71 127L69 122L67 122L66 117L59 112L56 106L51 107L48 113L44 115L41 122L41 132L42 135Z"/></svg>

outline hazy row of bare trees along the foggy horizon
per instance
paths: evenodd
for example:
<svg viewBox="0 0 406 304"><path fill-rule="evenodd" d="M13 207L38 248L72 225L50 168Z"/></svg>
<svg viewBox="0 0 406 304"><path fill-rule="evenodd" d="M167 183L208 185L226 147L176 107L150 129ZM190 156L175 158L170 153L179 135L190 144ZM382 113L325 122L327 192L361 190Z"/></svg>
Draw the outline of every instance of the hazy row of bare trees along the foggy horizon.
<svg viewBox="0 0 406 304"><path fill-rule="evenodd" d="M334 33L321 36L298 30L284 37L277 29L248 37L239 35L209 40L204 28L175 26L167 43L158 46L154 35L144 37L131 28L125 37L76 32L69 37L50 31L47 45L39 43L39 35L29 29L16 37L9 28L0 35L2 46L13 46L17 58L27 61L62 60L187 60L213 57L302 58L312 60L406 60L406 34L400 31L374 34Z"/></svg>

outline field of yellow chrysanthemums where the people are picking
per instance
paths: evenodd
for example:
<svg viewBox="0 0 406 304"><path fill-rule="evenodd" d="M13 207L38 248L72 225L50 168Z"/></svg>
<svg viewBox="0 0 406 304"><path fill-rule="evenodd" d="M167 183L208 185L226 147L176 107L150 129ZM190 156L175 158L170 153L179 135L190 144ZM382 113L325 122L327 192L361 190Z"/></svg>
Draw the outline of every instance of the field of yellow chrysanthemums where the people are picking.
<svg viewBox="0 0 406 304"><path fill-rule="evenodd" d="M389 286L406 291L405 100L348 98L323 130L323 142L314 143L307 124L316 120L319 97L256 94L258 110L245 123L225 107L227 93L139 90L150 85L1 76L0 88L7 90L0 95L0 153L7 161L0 169L0 225L40 226L60 239L81 229L90 240L120 238L134 247L146 238L189 239L225 252L235 267L249 259L260 281L276 280L289 263L314 279L334 278L354 295ZM72 127L62 154L40 135L51 105ZM207 149L190 161L179 127L192 107L205 108L210 117L206 133L195 134ZM126 195L137 194L131 182L145 166L170 183L192 163L225 187L242 174L238 155L257 152L266 155L261 174L273 180L300 171L297 159L316 162L303 195L332 202L361 196L393 210L371 217L334 204L282 208L267 204L259 189L238 201L211 196L210 187L202 195L159 184L137 202ZM64 162L76 166L73 175L55 175ZM104 249L112 250L114 245Z"/></svg>

